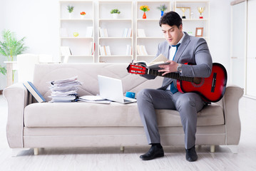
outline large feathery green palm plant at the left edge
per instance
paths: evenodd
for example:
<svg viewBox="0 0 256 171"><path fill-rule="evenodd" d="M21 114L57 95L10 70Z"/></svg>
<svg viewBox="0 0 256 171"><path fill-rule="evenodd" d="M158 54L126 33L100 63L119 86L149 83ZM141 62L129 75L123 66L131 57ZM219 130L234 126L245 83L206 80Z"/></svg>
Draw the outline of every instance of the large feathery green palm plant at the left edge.
<svg viewBox="0 0 256 171"><path fill-rule="evenodd" d="M4 41L0 41L0 54L5 56L7 61L14 61L14 57L23 53L28 48L24 44L25 37L18 41L14 32L4 30L2 37ZM6 70L2 69L1 73L3 73L2 71L6 73ZM14 71L12 72L12 83L14 83Z"/></svg>

